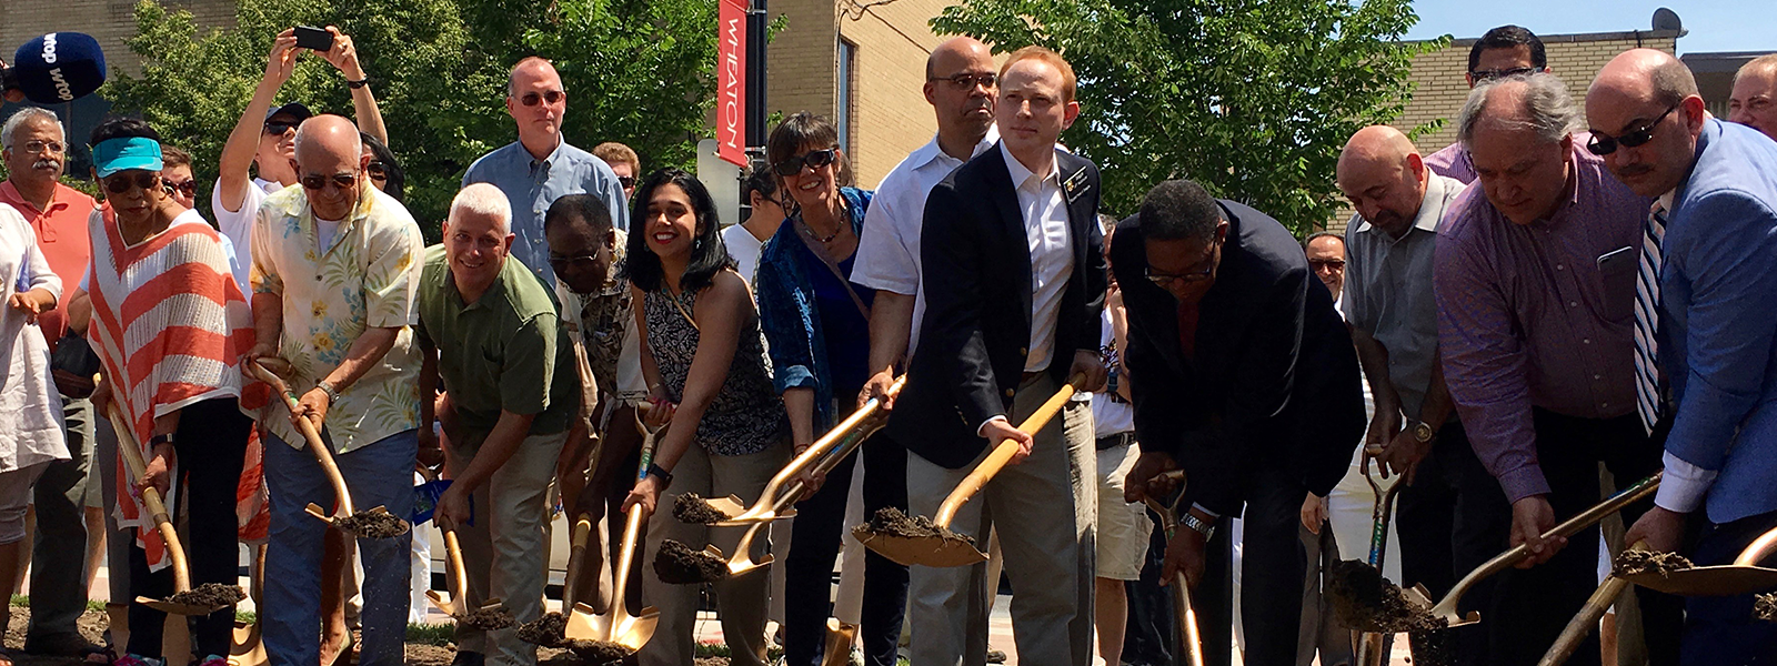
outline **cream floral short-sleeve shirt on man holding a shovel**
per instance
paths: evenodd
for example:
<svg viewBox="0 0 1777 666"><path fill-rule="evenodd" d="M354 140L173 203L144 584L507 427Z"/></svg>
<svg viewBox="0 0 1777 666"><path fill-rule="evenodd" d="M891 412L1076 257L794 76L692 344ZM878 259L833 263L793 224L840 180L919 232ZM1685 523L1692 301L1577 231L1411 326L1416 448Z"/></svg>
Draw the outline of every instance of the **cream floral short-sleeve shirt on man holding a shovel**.
<svg viewBox="0 0 1777 666"><path fill-rule="evenodd" d="M364 330L402 329L389 353L343 387L329 407L334 449L347 453L419 428L412 325L419 321L414 305L425 240L407 208L366 185L332 243L322 249L307 194L300 186L284 188L259 206L249 252L252 291L284 304L277 353L295 368L286 382L297 394L334 371ZM290 446L306 444L288 417L268 416L261 423Z"/></svg>

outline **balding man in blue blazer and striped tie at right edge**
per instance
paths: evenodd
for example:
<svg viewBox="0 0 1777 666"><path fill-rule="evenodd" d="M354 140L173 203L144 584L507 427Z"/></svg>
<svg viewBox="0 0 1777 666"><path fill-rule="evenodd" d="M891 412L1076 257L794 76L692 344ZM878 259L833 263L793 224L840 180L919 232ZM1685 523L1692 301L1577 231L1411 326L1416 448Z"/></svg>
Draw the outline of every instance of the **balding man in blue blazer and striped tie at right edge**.
<svg viewBox="0 0 1777 666"><path fill-rule="evenodd" d="M1585 112L1587 147L1658 197L1635 352L1644 423L1665 435L1665 481L1624 538L1727 565L1777 527L1777 144L1709 117L1690 69L1654 50L1612 59ZM1701 527L1695 545L1686 522ZM1683 662L1777 662L1777 625L1754 622L1752 602L1688 599Z"/></svg>

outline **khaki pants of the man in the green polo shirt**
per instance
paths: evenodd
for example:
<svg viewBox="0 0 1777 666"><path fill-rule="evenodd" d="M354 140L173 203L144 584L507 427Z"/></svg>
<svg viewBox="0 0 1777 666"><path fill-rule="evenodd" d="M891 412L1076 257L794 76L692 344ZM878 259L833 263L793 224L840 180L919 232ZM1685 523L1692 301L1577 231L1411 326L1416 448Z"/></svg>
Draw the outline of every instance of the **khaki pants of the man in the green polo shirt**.
<svg viewBox="0 0 1777 666"><path fill-rule="evenodd" d="M567 432L530 435L485 485L471 494L474 520L457 526L462 567L467 574L467 607L482 607L499 599L512 618L524 623L542 614L547 583L549 480ZM451 440L450 460L467 467L474 448ZM453 471L460 474L460 469ZM457 623L457 650L478 652L489 664L519 666L537 662L537 646L519 638L517 629L482 630Z"/></svg>

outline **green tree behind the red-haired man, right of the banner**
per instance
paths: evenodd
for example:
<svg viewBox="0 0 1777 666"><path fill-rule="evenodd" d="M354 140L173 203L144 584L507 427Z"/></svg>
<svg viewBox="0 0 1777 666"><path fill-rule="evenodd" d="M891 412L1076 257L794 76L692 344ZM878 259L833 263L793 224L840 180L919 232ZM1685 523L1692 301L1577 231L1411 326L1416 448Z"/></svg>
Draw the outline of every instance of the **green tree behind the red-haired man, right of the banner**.
<svg viewBox="0 0 1777 666"><path fill-rule="evenodd" d="M1061 52L1080 119L1063 142L1104 170L1111 211L1191 178L1303 233L1340 206L1333 169L1358 128L1413 96L1409 0L967 0L931 21L1011 52Z"/></svg>

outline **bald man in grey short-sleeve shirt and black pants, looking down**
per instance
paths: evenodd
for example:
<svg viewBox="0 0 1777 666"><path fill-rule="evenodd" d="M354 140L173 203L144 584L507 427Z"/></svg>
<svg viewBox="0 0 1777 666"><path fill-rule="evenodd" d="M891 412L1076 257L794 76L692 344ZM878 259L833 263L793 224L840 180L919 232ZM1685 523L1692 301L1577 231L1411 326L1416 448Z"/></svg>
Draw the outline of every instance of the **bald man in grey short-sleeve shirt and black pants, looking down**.
<svg viewBox="0 0 1777 666"><path fill-rule="evenodd" d="M1438 302L1432 254L1438 220L1462 194L1454 178L1430 172L1404 133L1386 124L1358 130L1338 160L1338 188L1358 215L1345 226L1342 305L1358 361L1375 396L1365 451L1383 478L1400 474L1402 584L1443 597L1457 577L1498 552L1510 504L1475 458L1438 364ZM1345 543L1361 552L1363 543ZM1486 607L1482 583L1462 597ZM1457 630L1459 662L1487 664L1486 627Z"/></svg>

